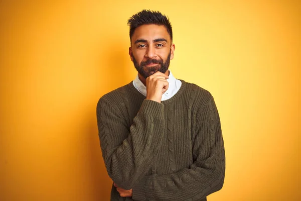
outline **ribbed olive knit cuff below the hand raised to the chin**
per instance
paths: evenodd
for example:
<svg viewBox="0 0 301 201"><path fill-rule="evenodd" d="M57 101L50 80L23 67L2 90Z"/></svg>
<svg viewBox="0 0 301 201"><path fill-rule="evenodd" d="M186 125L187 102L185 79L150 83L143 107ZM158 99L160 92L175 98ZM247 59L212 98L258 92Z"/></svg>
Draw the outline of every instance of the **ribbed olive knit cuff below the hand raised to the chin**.
<svg viewBox="0 0 301 201"><path fill-rule="evenodd" d="M154 100L144 99L140 107L140 112L153 117L164 117L164 105Z"/></svg>

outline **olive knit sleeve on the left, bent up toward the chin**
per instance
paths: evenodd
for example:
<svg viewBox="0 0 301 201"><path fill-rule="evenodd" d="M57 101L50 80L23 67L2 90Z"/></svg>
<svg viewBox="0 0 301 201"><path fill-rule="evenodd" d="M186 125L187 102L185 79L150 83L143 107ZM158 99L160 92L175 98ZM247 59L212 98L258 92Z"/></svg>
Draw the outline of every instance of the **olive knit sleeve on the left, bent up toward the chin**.
<svg viewBox="0 0 301 201"><path fill-rule="evenodd" d="M124 118L105 98L99 99L96 111L108 175L118 186L131 189L149 170L161 147L164 105L143 100L129 129Z"/></svg>

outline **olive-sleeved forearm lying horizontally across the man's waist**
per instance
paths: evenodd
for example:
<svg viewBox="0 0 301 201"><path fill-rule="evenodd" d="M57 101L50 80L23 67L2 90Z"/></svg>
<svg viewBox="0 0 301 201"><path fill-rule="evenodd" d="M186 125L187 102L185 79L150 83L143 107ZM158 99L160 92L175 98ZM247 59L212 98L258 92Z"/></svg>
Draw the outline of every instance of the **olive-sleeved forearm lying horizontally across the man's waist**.
<svg viewBox="0 0 301 201"><path fill-rule="evenodd" d="M216 167L196 167L182 169L167 175L144 176L133 187L133 199L137 200L200 200L218 191L223 186L225 176L224 151L220 152Z"/></svg>

